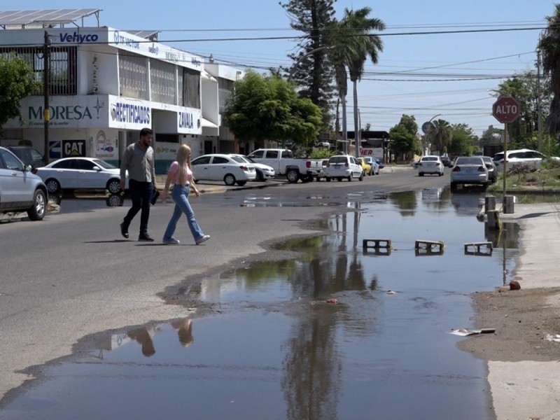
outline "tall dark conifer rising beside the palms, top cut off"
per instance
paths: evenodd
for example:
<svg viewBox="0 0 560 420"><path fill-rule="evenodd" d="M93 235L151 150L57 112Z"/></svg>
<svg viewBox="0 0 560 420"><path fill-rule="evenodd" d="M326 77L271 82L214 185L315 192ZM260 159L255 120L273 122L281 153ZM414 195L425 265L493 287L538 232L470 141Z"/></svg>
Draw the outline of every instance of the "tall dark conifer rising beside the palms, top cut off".
<svg viewBox="0 0 560 420"><path fill-rule="evenodd" d="M328 29L332 27L335 16L335 0L288 0L280 5L288 13L290 26L303 33L297 43L297 52L289 54L293 61L289 71L290 80L302 87L301 97L321 108L323 126L330 125L330 110L334 87L333 70L327 59L331 45Z"/></svg>

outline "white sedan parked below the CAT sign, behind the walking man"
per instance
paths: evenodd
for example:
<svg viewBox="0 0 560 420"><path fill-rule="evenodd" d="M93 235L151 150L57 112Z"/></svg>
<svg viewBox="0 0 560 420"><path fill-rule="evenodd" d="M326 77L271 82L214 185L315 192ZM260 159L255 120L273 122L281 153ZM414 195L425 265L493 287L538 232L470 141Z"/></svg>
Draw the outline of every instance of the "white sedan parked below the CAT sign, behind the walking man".
<svg viewBox="0 0 560 420"><path fill-rule="evenodd" d="M37 168L37 175L51 194L60 190L109 190L111 194L120 191L120 169L97 158L62 158Z"/></svg>

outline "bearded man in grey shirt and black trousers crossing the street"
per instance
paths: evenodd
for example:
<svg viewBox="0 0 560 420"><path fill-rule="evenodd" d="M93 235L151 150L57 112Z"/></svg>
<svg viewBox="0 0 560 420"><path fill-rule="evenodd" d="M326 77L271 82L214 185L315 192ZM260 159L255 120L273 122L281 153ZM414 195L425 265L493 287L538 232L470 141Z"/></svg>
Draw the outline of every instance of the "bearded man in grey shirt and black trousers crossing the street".
<svg viewBox="0 0 560 420"><path fill-rule="evenodd" d="M148 235L148 218L150 218L150 202L155 191L155 156L151 146L153 131L143 128L140 139L130 144L120 164L120 189L125 189L125 176L128 171L128 189L132 200L132 207L120 223L120 233L128 238L128 227L134 216L140 214L139 241L153 241Z"/></svg>

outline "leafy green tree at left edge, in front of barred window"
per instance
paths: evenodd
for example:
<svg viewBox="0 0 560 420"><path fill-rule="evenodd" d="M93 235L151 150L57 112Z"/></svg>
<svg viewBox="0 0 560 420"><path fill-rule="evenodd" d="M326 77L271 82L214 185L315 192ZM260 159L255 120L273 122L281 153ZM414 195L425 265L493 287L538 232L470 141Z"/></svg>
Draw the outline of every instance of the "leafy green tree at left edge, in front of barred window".
<svg viewBox="0 0 560 420"><path fill-rule="evenodd" d="M0 56L0 134L10 118L23 120L20 102L38 87L33 70L24 59L17 55Z"/></svg>

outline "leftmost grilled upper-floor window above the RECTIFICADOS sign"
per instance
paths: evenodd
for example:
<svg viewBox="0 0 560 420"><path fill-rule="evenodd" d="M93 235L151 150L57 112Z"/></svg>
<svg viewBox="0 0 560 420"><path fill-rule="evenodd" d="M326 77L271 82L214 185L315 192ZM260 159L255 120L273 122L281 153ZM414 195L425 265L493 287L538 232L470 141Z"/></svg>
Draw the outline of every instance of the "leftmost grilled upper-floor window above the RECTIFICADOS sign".
<svg viewBox="0 0 560 420"><path fill-rule="evenodd" d="M148 92L148 59L120 51L118 55L120 94L134 99L150 99Z"/></svg>

